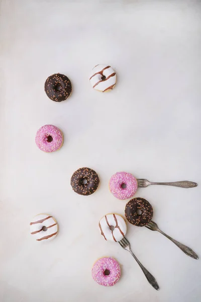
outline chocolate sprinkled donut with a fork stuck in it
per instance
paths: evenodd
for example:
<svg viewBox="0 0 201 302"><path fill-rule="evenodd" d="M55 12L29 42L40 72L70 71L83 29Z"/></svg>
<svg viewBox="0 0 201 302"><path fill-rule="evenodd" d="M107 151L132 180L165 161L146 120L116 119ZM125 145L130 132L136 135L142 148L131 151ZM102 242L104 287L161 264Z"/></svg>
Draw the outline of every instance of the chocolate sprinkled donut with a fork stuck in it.
<svg viewBox="0 0 201 302"><path fill-rule="evenodd" d="M153 208L146 199L133 198L126 204L125 216L130 223L144 226L152 219Z"/></svg>

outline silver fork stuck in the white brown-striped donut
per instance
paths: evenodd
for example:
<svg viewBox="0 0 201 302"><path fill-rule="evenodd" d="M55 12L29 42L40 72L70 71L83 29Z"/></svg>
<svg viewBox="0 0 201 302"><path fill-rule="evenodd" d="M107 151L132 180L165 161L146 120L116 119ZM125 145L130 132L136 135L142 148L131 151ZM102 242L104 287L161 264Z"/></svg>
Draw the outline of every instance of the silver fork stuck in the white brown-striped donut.
<svg viewBox="0 0 201 302"><path fill-rule="evenodd" d="M122 240L119 241L119 244L121 245L121 247L127 251L129 251L131 253L131 255L135 258L135 260L137 261L137 263L139 264L139 266L141 267L143 273L145 274L145 277L147 278L148 282L156 289L159 290L159 286L158 283L156 282L156 279L154 278L154 276L152 276L152 274L150 274L150 272L148 272L148 270L142 265L142 263L138 260L138 258L133 254L132 250L131 250L131 246L129 241L126 239L126 237L124 237Z"/></svg>

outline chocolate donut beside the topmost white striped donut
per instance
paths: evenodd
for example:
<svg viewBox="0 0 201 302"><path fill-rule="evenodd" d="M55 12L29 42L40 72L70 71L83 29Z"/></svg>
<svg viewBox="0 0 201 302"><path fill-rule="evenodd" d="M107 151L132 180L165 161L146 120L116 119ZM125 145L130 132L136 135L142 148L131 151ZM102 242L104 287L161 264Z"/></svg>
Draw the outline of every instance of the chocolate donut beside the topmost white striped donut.
<svg viewBox="0 0 201 302"><path fill-rule="evenodd" d="M71 82L66 75L54 73L45 81L45 92L52 101L64 101L71 95Z"/></svg>

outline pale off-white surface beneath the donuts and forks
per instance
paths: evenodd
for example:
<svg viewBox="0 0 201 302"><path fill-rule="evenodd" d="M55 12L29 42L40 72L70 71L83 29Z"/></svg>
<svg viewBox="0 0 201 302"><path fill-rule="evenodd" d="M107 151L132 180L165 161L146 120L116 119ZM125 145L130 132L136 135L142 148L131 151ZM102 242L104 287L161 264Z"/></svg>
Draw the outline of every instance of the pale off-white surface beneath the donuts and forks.
<svg viewBox="0 0 201 302"><path fill-rule="evenodd" d="M119 244L104 241L98 220L123 214L126 201L108 189L112 174L128 171L152 181L200 177L200 1L1 1L1 302L198 302L201 260L193 260L157 232L128 224L133 251L156 277L154 290ZM88 81L91 68L111 64L114 91ZM69 100L44 92L48 75L71 79ZM65 141L41 152L35 134L44 124ZM70 186L72 173L93 168L96 193ZM152 186L154 220L201 257L200 186ZM59 234L36 242L29 223L54 215ZM94 261L113 256L122 277L111 288L91 278Z"/></svg>

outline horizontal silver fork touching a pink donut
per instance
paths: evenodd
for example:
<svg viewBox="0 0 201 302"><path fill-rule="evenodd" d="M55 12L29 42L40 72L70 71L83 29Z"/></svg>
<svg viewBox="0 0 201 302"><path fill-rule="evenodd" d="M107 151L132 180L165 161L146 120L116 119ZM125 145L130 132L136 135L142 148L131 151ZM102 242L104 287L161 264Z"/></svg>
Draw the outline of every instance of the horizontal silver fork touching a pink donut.
<svg viewBox="0 0 201 302"><path fill-rule="evenodd" d="M164 185L164 186L173 186L173 187L180 187L180 188L193 188L197 186L197 183L188 180L168 182L168 183L155 183L147 179L138 178L137 181L138 181L138 188L146 188L150 185Z"/></svg>

